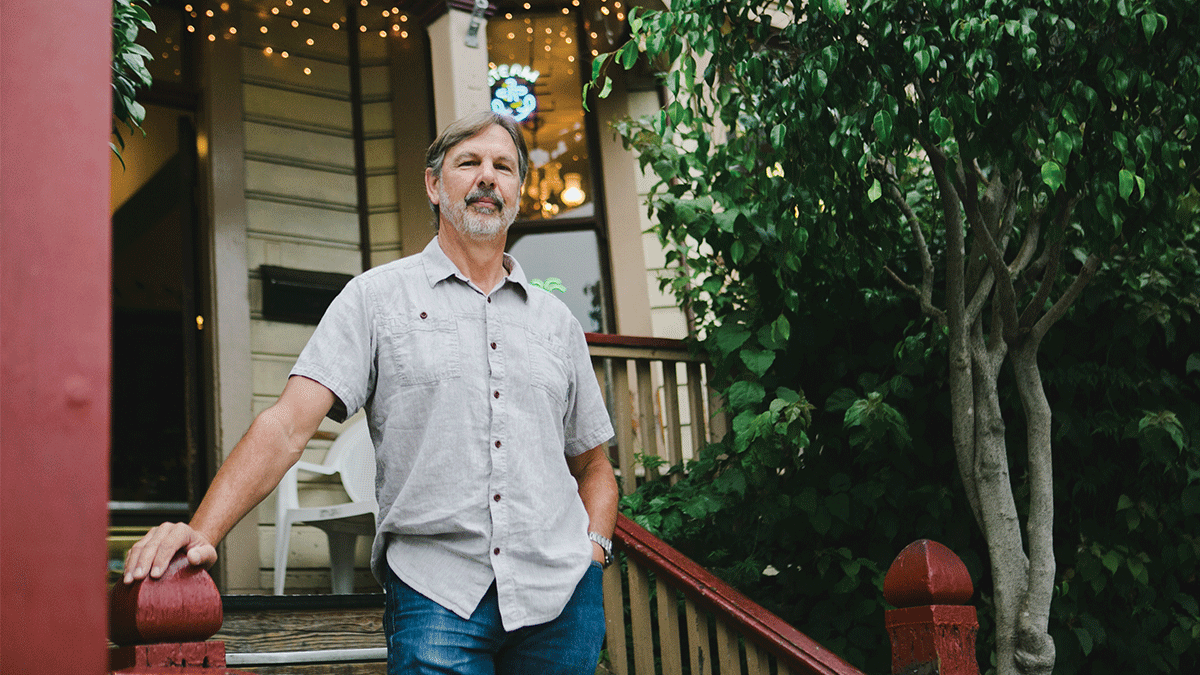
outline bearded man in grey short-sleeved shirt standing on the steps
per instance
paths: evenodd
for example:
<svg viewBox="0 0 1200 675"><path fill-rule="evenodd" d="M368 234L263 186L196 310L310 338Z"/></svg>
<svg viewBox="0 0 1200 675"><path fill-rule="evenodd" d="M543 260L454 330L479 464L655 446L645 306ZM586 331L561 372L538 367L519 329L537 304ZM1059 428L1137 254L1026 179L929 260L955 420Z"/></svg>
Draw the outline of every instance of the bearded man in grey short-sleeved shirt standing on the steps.
<svg viewBox="0 0 1200 675"><path fill-rule="evenodd" d="M347 285L191 524L151 530L126 583L160 577L179 550L211 566L322 418L366 407L389 674L594 670L612 425L578 322L504 253L527 168L511 118L443 131L425 169L437 238Z"/></svg>

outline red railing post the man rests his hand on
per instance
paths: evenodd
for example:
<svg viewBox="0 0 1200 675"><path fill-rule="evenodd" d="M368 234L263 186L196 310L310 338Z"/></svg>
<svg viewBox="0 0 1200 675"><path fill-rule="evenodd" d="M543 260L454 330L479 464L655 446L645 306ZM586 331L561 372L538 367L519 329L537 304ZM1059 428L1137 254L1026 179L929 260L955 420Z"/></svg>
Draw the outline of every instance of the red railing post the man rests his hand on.
<svg viewBox="0 0 1200 675"><path fill-rule="evenodd" d="M253 675L226 668L221 593L209 573L175 556L161 579L118 581L109 593L113 675Z"/></svg>

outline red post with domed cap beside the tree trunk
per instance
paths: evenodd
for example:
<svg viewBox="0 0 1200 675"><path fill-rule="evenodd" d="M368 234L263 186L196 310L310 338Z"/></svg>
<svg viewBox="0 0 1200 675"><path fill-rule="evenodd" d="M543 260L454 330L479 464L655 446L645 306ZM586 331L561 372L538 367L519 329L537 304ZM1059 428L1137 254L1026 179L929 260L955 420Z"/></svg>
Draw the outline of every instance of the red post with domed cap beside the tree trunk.
<svg viewBox="0 0 1200 675"><path fill-rule="evenodd" d="M892 673L979 675L971 574L954 551L919 539L905 546L883 578L884 613L892 639Z"/></svg>

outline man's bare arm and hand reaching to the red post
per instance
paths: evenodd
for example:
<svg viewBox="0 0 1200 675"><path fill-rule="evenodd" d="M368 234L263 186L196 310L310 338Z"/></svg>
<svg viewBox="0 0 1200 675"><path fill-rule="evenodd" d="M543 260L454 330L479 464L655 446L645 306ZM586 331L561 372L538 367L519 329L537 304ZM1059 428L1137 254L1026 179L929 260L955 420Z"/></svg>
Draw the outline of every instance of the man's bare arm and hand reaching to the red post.
<svg viewBox="0 0 1200 675"><path fill-rule="evenodd" d="M157 579L176 551L192 565L212 566L216 544L280 484L304 453L336 396L307 377L290 377L283 394L259 413L217 471L190 524L164 522L130 549L125 583Z"/></svg>

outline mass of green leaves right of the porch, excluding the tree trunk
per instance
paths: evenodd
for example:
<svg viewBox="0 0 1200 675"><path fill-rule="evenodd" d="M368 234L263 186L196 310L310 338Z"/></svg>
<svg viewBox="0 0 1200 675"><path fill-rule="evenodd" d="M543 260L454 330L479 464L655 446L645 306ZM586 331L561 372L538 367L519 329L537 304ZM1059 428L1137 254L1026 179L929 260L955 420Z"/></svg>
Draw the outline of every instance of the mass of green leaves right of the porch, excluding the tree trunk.
<svg viewBox="0 0 1200 675"><path fill-rule="evenodd" d="M649 207L682 270L664 286L697 318L733 432L623 507L868 670L888 668L880 587L911 540L958 551L986 610L986 548L950 449L947 334L914 289L946 261L947 227L973 232L948 191L970 213L1015 186L992 233L1002 250L1030 237L1040 259L1067 251L1061 269L1031 268L1060 283L1106 261L1040 359L1058 671L1194 669L1200 275L1184 196L1200 167L1200 8L677 0L629 20L594 84L608 90L612 64L670 64L671 102L617 131L659 179ZM935 179L938 161L955 185ZM1024 300L1036 281L1015 280ZM1015 393L1001 400L1022 448Z"/></svg>

